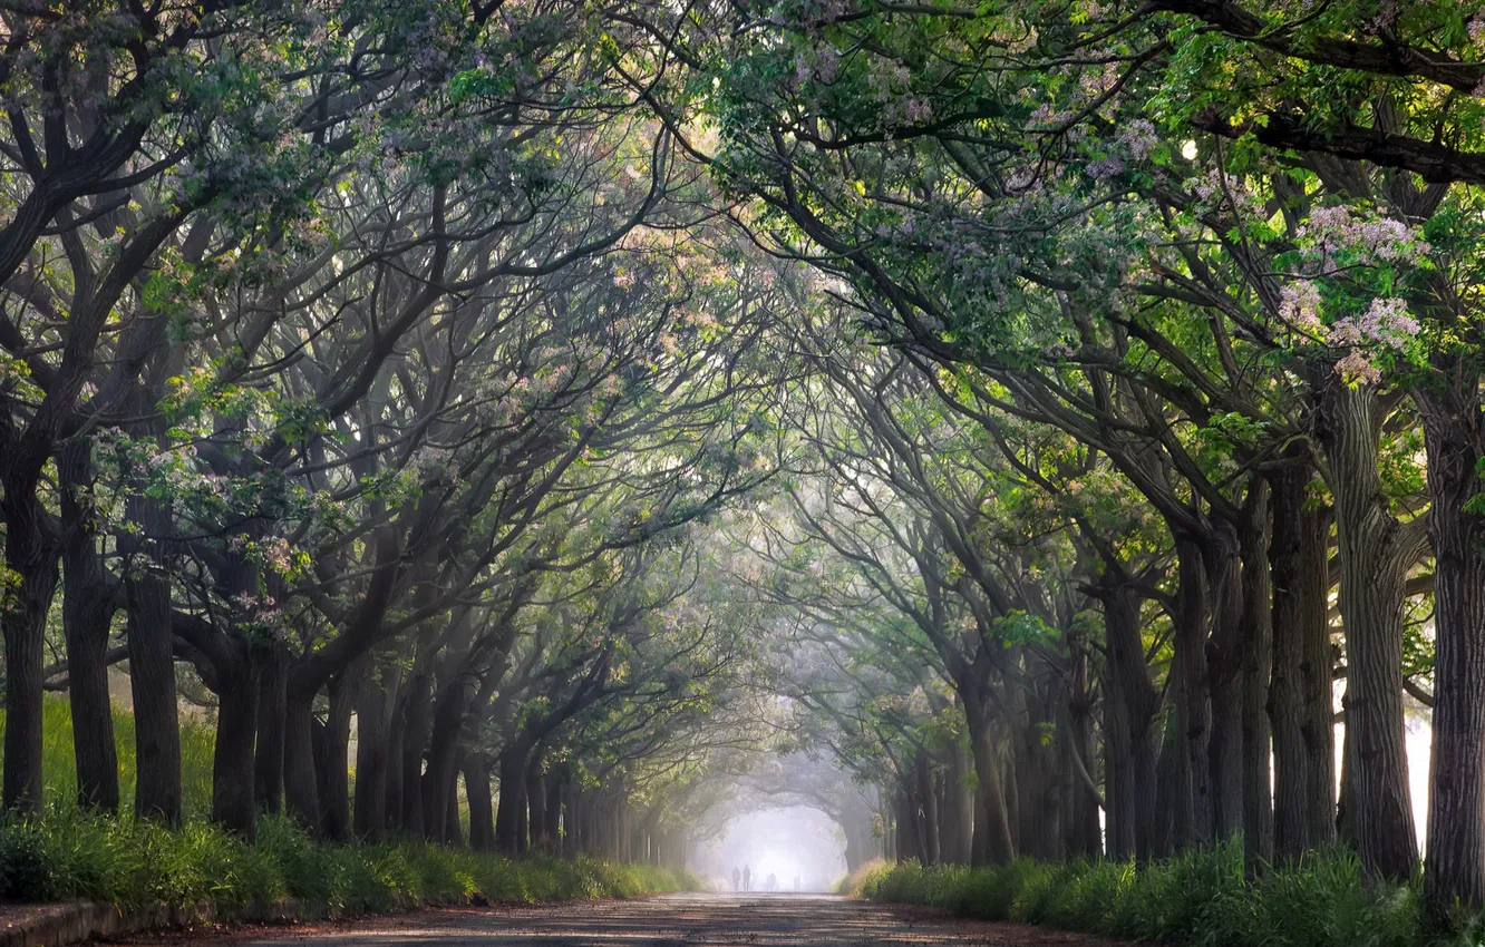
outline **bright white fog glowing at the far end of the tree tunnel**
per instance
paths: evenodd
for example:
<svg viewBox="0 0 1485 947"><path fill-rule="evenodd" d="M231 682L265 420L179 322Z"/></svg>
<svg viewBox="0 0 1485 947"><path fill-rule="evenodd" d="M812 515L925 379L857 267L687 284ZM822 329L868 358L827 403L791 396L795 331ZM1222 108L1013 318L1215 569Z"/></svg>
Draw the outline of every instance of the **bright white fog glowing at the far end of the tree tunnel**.
<svg viewBox="0 0 1485 947"><path fill-rule="evenodd" d="M818 809L787 806L737 815L722 836L701 848L701 871L716 891L732 891L732 870L748 868L751 891L832 891L845 873L845 839Z"/></svg>

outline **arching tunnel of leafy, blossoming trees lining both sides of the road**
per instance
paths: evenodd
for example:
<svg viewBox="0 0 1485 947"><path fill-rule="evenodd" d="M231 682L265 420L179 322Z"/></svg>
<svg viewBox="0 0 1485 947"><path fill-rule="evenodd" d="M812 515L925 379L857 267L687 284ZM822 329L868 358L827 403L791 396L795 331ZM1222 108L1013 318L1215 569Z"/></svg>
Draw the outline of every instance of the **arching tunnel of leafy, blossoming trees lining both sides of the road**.
<svg viewBox="0 0 1485 947"><path fill-rule="evenodd" d="M1485 907L1476 0L0 36L7 818L683 862L745 784Z"/></svg>

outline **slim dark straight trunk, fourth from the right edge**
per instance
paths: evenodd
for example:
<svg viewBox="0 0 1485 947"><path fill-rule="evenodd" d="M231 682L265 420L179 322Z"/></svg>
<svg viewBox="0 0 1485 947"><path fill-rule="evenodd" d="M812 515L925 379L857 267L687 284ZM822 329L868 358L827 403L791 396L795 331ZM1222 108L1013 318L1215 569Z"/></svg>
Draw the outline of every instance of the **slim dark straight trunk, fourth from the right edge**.
<svg viewBox="0 0 1485 947"><path fill-rule="evenodd" d="M1243 852L1249 871L1274 856L1274 805L1270 757L1268 686L1273 669L1273 595L1267 481L1249 487L1243 509Z"/></svg>

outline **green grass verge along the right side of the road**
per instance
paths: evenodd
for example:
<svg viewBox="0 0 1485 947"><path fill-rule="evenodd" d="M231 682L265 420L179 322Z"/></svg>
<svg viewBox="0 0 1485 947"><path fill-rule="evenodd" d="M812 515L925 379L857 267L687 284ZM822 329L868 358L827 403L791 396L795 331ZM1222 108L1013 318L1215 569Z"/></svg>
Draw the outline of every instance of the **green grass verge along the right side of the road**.
<svg viewBox="0 0 1485 947"><path fill-rule="evenodd" d="M851 892L943 907L965 917L1182 947L1418 947L1479 944L1481 929L1426 929L1414 885L1362 880L1354 855L1316 856L1243 874L1240 845L1136 870L1132 862L1017 861L1002 868L876 864Z"/></svg>

